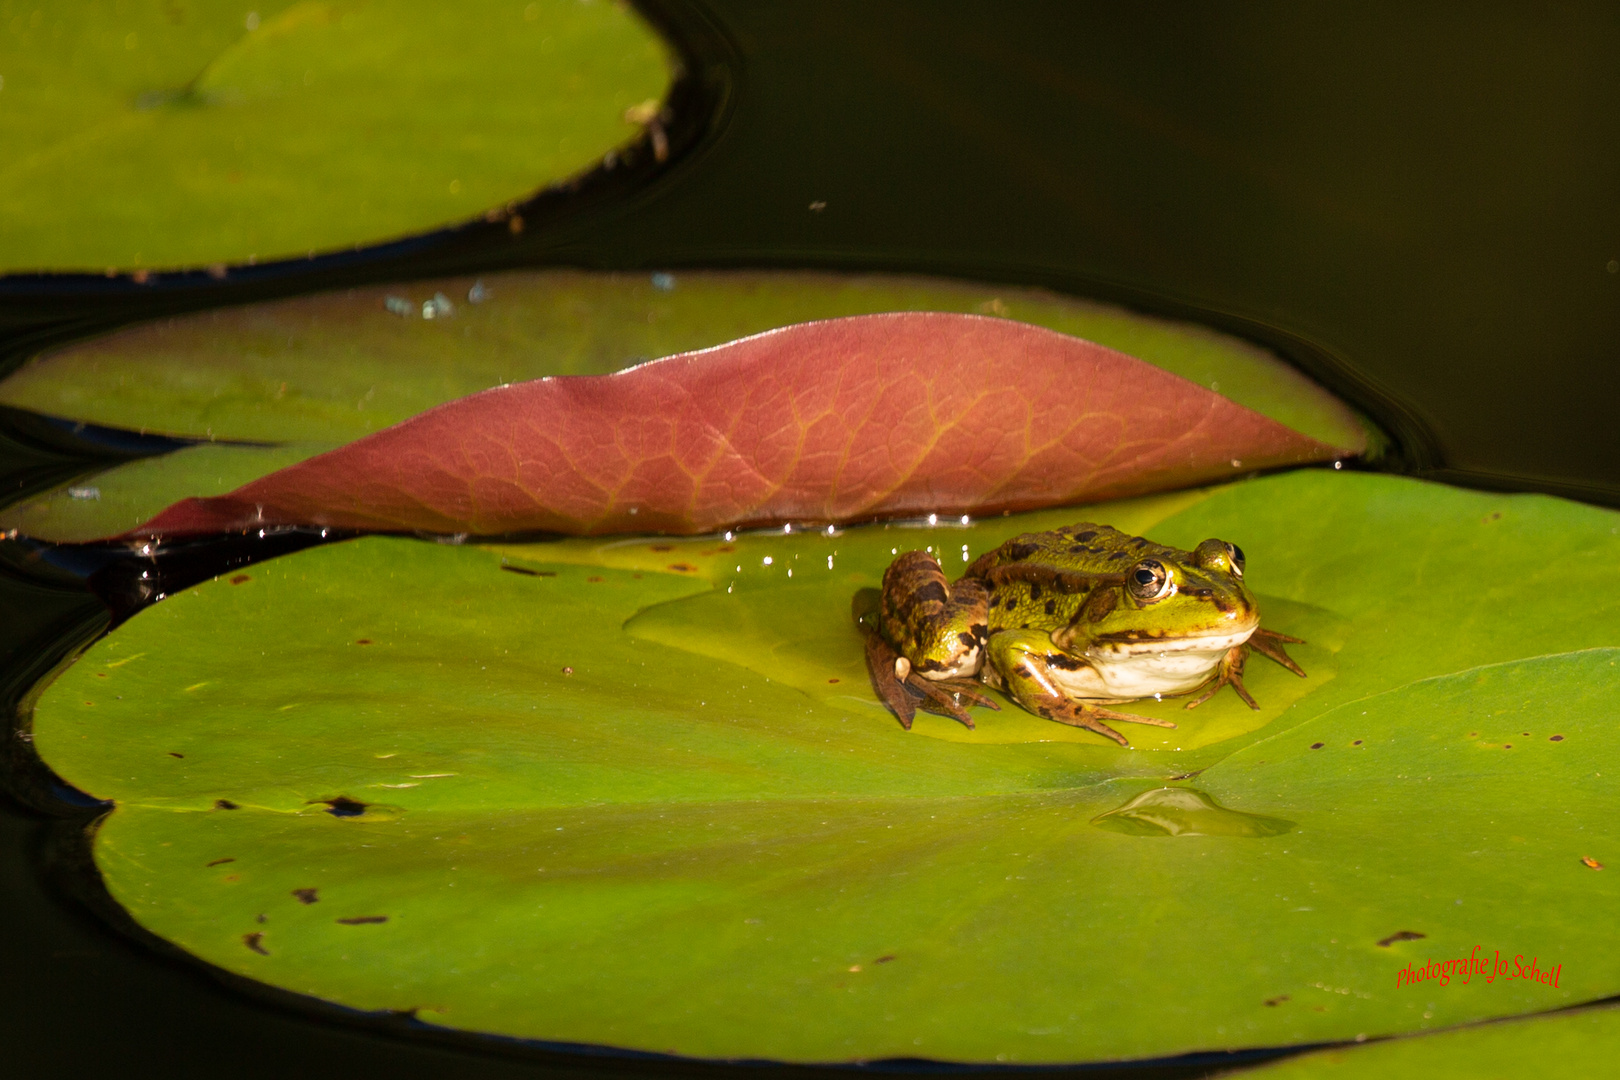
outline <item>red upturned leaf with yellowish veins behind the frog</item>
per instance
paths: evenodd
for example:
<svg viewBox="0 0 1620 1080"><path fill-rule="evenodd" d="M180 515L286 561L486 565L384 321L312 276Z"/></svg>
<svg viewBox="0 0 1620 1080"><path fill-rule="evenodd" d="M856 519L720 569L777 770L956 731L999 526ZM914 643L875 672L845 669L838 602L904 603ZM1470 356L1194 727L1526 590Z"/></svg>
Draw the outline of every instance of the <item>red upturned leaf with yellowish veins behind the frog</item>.
<svg viewBox="0 0 1620 1080"><path fill-rule="evenodd" d="M828 319L450 402L133 531L661 531L1000 513L1353 455L1006 319Z"/></svg>

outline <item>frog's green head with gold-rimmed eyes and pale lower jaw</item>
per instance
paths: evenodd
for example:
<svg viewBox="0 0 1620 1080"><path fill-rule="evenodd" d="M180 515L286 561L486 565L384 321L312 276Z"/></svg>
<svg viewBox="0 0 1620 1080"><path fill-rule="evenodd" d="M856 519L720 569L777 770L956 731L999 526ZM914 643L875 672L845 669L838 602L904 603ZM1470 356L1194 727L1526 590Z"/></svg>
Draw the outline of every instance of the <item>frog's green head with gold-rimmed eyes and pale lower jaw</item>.
<svg viewBox="0 0 1620 1080"><path fill-rule="evenodd" d="M1134 554L1124 581L1094 589L1069 625L1053 635L1059 648L1118 654L1225 649L1260 625L1236 544L1207 539L1192 551L1150 544Z"/></svg>

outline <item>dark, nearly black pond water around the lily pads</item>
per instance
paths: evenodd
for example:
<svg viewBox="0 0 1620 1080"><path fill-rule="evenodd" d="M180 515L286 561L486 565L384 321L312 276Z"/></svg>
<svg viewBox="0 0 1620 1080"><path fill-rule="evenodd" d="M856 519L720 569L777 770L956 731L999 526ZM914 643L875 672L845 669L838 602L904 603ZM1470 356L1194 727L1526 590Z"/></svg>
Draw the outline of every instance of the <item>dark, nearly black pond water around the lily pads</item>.
<svg viewBox="0 0 1620 1080"><path fill-rule="evenodd" d="M470 227L225 282L0 279L0 364L130 319L356 280L922 270L1202 319L1372 415L1396 468L1620 504L1620 8L721 0L658 15L693 58L667 167L552 196L520 236ZM3 497L154 449L8 415ZM105 625L91 572L109 596L139 588L128 560L37 554L0 559L13 703ZM50 839L86 818L62 813L0 803L0 1038L18 1075L714 1072L460 1051L249 1001L81 907L71 868L52 870L73 845Z"/></svg>

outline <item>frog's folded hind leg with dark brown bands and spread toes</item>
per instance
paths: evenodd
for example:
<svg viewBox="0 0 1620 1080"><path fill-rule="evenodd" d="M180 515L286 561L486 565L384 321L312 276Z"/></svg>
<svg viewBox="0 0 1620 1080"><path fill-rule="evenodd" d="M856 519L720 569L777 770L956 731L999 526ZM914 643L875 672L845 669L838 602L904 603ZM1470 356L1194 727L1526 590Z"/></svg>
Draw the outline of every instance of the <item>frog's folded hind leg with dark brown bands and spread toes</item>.
<svg viewBox="0 0 1620 1080"><path fill-rule="evenodd" d="M928 552L909 551L883 573L878 627L863 627L867 669L902 727L910 729L917 708L974 727L957 696L998 708L970 682L985 662L988 602L983 581L953 586Z"/></svg>

